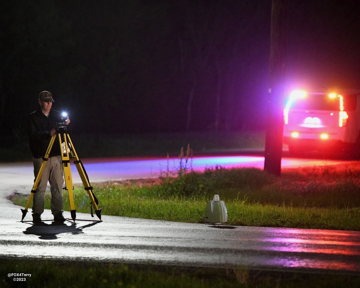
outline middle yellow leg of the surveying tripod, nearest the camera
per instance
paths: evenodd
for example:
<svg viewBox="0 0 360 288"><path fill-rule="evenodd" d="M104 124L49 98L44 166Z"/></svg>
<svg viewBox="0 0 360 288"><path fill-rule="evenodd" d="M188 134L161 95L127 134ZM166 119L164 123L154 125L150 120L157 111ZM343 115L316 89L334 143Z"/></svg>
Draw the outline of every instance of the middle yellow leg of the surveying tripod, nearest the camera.
<svg viewBox="0 0 360 288"><path fill-rule="evenodd" d="M66 134L65 133L63 134L66 154L63 153L61 135L60 134L58 134L58 135L59 135L58 137L59 137L61 158L62 158L62 164L63 164L63 170L64 170L65 189L68 191L68 195L69 195L71 218L72 218L72 220L75 221L76 210L75 210L74 194L73 194L74 186L73 186L72 177L71 177L71 169L70 169L69 152L68 152Z"/></svg>

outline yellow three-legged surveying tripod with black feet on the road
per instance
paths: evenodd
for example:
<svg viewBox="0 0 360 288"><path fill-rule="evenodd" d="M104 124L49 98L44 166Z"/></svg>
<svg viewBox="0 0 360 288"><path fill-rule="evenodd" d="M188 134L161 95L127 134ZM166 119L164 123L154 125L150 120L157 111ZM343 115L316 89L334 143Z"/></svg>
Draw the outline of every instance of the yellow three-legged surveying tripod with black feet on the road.
<svg viewBox="0 0 360 288"><path fill-rule="evenodd" d="M77 157L74 145L72 144L70 136L67 132L65 122L55 123L55 129L56 129L56 134L53 137L51 137L48 149L46 150L45 156L42 158L40 170L35 178L34 185L32 186L32 189L31 189L30 197L26 203L26 207L25 207L25 209L21 209L21 211L22 211L21 221L24 220L26 213L28 212L28 208L30 206L32 198L34 196L34 193L36 193L37 185L39 184L42 172L44 171L46 161L48 161L51 148L53 147L54 142L55 142L55 138L58 138L58 140L59 140L60 154L61 154L61 158L62 158L62 165L63 165L63 170L64 170L64 180L65 180L65 188L63 188L63 189L68 191L69 203L70 203L70 214L71 214L72 220L75 222L76 210L75 210L75 203L74 203L74 194L73 194L74 186L73 186L72 177L71 177L69 154L71 154L72 158L75 158L75 160L73 162L74 162L74 164L77 168L77 171L80 175L82 184L84 184L84 189L86 190L87 194L89 195L89 198L91 201L91 203L90 203L91 217L94 217L93 207L92 207L92 206L94 206L96 216L98 216L100 221L102 221L101 220L101 209L98 208L99 201L98 201L98 199L96 199L95 194L93 193L93 186L91 186L89 183L89 177L87 177L84 165L82 165L82 162Z"/></svg>

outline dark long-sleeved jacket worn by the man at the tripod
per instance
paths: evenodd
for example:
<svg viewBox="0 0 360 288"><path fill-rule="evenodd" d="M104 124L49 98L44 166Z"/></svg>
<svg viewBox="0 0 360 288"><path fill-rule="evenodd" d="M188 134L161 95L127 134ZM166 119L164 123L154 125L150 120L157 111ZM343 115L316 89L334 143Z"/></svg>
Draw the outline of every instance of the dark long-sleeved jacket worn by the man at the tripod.
<svg viewBox="0 0 360 288"><path fill-rule="evenodd" d="M45 156L51 139L50 131L55 128L55 123L59 122L63 122L61 114L52 108L49 118L41 112L40 106L30 114L27 133L29 135L29 146L33 157L41 158ZM49 157L59 155L61 155L60 144L56 138Z"/></svg>

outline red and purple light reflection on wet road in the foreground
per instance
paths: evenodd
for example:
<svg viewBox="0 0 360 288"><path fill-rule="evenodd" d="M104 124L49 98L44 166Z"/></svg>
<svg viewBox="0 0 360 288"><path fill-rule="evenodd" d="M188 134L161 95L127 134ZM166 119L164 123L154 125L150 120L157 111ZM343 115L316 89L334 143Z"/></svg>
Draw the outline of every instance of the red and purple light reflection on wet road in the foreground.
<svg viewBox="0 0 360 288"><path fill-rule="evenodd" d="M262 239L264 245L260 249L284 253L282 258L275 257L267 264L283 267L360 270L360 244L355 242L359 240L359 235L352 233L353 231L283 228L266 230L266 237ZM276 236L284 234L284 237L271 237L271 234ZM293 237L289 237L289 234L293 234ZM307 253L310 253L311 257Z"/></svg>

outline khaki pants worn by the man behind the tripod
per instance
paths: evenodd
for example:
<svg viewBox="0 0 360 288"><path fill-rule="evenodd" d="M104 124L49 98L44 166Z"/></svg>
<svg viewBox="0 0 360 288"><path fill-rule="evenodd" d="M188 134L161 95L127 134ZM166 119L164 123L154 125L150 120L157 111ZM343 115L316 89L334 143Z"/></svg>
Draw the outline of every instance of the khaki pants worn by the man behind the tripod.
<svg viewBox="0 0 360 288"><path fill-rule="evenodd" d="M35 178L39 173L42 158L33 158ZM49 157L46 161L44 171L42 172L36 193L32 200L32 213L41 215L44 212L44 197L48 181L51 192L51 213L56 215L63 212L63 194L64 172L61 156Z"/></svg>

